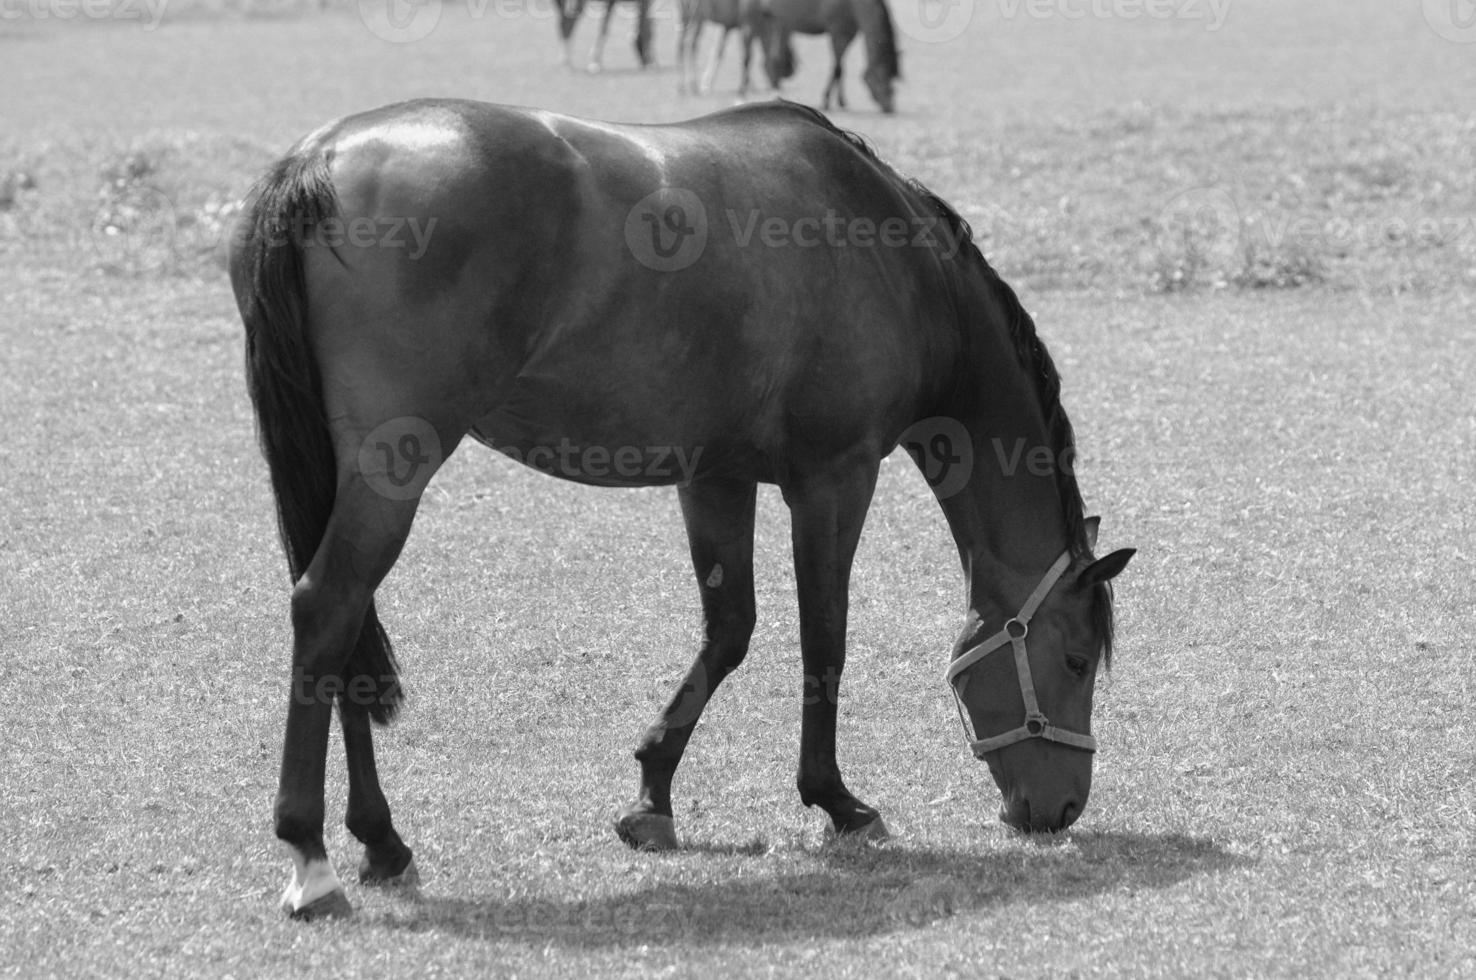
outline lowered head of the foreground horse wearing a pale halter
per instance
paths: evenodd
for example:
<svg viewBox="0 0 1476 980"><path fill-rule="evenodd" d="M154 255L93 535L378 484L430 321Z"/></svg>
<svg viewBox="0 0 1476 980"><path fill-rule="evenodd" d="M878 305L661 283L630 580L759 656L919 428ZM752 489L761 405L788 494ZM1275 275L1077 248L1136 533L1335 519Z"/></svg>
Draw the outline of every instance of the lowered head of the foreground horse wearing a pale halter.
<svg viewBox="0 0 1476 980"><path fill-rule="evenodd" d="M1132 549L1092 559L1067 551L1017 608L979 610L948 677L973 722L974 754L1004 794L999 818L1060 831L1092 788L1092 689L1111 651L1111 589ZM995 621L989 621L989 620Z"/></svg>

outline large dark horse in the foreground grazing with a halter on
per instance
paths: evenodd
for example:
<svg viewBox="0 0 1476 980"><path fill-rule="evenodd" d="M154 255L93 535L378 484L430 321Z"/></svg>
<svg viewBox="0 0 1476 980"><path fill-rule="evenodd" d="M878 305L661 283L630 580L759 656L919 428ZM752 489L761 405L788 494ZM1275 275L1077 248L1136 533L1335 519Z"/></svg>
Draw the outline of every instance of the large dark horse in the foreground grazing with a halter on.
<svg viewBox="0 0 1476 980"><path fill-rule="evenodd" d="M636 750L629 844L676 846L673 773L748 649L759 483L791 514L800 800L840 834L886 835L841 781L835 717L852 558L899 443L962 559L951 680L1001 816L1054 831L1080 815L1107 580L1132 552L1092 558L1060 379L968 226L819 112L608 125L422 100L348 117L252 190L230 279L295 582L276 797L294 915L350 909L323 847L335 701L360 880L413 875L370 745L400 698L373 595L468 435L568 480L677 487L706 639Z"/></svg>

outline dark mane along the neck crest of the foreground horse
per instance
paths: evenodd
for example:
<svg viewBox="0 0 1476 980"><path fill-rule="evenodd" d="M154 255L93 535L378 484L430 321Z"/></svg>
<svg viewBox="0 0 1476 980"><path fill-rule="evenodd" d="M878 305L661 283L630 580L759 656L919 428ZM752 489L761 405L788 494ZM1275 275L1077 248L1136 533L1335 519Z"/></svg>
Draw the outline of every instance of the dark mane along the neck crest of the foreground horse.
<svg viewBox="0 0 1476 980"><path fill-rule="evenodd" d="M1085 556L1091 549L1086 540L1086 505L1082 502L1082 489L1076 481L1076 434L1072 429L1072 419L1067 418L1066 407L1061 404L1061 375L1055 369L1055 362L1051 360L1051 353L1045 348L1039 332L1035 329L1035 320L1030 317L1030 313L1020 304L1020 297L1010 288L1010 283L995 272L993 266L984 258L984 254L979 251L979 246L974 244L974 230L948 201L928 190L915 177L897 173L892 164L877 155L877 151L863 137L840 128L818 109L810 111L821 125L850 143L856 152L866 156L883 174L896 182L897 186L921 199L948 226L949 233L953 236L952 241L961 244L952 261L977 263L983 270L995 301L1004 310L1007 329L1014 341L1020 366L1035 381L1035 393L1041 403L1041 413L1045 418L1045 431L1051 440L1051 456L1057 460L1057 466L1054 468L1055 490L1061 497L1061 511L1066 518L1066 540L1073 558ZM1111 586L1107 583L1095 587L1095 595L1092 596L1092 626L1103 638L1103 660L1110 664L1113 615Z"/></svg>

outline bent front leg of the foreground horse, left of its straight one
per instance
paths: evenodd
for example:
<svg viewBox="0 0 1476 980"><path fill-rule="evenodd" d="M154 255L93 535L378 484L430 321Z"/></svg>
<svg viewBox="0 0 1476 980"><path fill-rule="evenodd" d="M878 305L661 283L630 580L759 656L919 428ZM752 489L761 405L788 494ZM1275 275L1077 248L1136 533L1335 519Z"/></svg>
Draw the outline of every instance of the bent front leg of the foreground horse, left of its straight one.
<svg viewBox="0 0 1476 980"><path fill-rule="evenodd" d="M615 819L615 832L632 847L677 846L672 819L672 776L692 729L717 685L738 669L753 636L753 520L757 486L703 481L682 487L682 518L703 596L706 636L670 703L646 729L636 760L636 801Z"/></svg>

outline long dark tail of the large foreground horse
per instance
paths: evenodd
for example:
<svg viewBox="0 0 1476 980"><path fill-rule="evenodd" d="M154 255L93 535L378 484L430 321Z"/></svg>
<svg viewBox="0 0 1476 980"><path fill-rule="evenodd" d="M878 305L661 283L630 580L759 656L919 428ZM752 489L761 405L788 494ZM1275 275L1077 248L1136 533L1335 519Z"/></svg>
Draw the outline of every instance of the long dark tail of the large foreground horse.
<svg viewBox="0 0 1476 980"><path fill-rule="evenodd" d="M307 339L303 267L304 236L337 211L328 161L298 148L255 186L230 248L230 282L246 328L246 391L294 583L323 540L338 486L317 359ZM342 680L339 698L351 692L381 725L394 717L403 697L399 669L372 599Z"/></svg>

